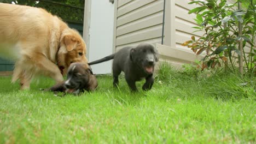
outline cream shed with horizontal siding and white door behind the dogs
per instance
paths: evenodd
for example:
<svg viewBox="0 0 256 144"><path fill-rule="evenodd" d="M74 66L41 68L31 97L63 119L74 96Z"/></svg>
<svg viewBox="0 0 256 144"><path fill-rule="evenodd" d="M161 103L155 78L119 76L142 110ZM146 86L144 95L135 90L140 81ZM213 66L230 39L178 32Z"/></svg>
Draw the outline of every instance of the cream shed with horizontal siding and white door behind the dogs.
<svg viewBox="0 0 256 144"><path fill-rule="evenodd" d="M39 3L41 1L48 2L40 0ZM151 43L157 47L161 61L181 67L184 63L195 63L196 59L201 59L201 56L182 46L191 35L196 38L203 35L203 32L194 33L192 27L197 26L194 21L196 15L188 14L188 11L197 5L189 2L191 0L85 0L84 9L71 7L74 10L67 12L83 10L83 21L67 22L83 33L89 62L124 46ZM227 2L234 3L232 0ZM0 70L4 70L3 65L5 70L11 68L11 63L3 64L1 59L0 64ZM92 69L96 74L110 74L111 61L92 65Z"/></svg>

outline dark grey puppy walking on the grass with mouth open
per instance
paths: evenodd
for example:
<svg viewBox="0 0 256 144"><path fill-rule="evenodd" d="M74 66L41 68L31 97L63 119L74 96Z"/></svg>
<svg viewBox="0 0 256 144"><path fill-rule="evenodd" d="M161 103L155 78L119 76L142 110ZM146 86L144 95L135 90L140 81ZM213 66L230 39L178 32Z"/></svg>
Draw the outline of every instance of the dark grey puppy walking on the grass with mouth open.
<svg viewBox="0 0 256 144"><path fill-rule="evenodd" d="M155 63L158 62L158 52L153 45L143 43L136 47L127 46L112 55L88 64L102 63L110 59L114 59L112 65L114 87L118 86L118 76L121 71L124 71L125 80L131 91L138 91L135 82L140 81L142 78L146 78L142 89L147 91L152 88L154 67Z"/></svg>

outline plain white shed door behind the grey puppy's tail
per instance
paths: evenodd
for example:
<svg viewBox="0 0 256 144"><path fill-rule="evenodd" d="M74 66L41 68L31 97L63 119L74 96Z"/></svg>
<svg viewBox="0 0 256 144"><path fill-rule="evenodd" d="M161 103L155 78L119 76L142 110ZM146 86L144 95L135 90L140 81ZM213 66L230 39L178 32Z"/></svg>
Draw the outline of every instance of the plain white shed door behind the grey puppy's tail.
<svg viewBox="0 0 256 144"><path fill-rule="evenodd" d="M91 0L90 3L91 14L86 41L88 60L92 62L113 53L114 4L106 0ZM91 68L95 74L110 74L112 61L91 65Z"/></svg>

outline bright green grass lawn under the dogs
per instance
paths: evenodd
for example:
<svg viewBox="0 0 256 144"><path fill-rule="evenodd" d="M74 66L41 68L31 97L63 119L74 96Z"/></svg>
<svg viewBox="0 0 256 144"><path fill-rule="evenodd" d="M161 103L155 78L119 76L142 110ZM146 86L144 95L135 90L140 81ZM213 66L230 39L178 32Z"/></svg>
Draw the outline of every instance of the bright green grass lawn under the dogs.
<svg viewBox="0 0 256 144"><path fill-rule="evenodd" d="M167 72L166 72L167 71ZM96 92L56 97L34 81L20 91L0 77L0 143L255 143L253 85L238 76L218 78L160 71L153 89L130 93L111 76L97 76Z"/></svg>

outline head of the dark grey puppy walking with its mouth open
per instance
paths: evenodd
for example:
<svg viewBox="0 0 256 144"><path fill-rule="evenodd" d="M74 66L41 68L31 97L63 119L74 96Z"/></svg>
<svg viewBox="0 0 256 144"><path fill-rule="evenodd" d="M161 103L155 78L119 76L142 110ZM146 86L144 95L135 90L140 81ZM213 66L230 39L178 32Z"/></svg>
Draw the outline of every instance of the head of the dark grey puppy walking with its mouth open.
<svg viewBox="0 0 256 144"><path fill-rule="evenodd" d="M130 59L144 73L153 74L155 63L158 62L158 51L153 45L142 43L130 50Z"/></svg>

